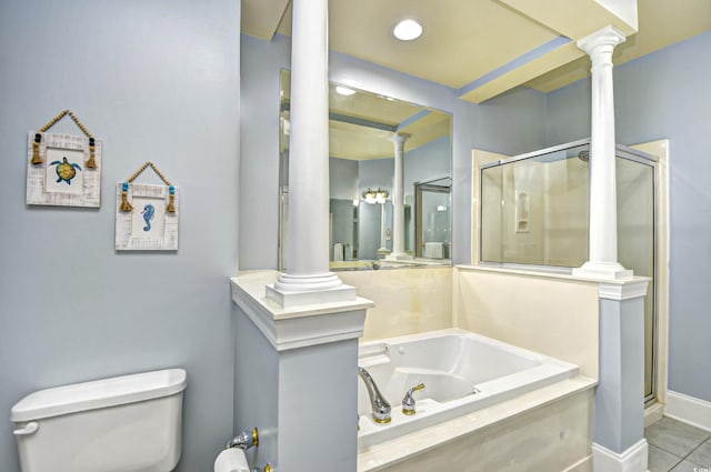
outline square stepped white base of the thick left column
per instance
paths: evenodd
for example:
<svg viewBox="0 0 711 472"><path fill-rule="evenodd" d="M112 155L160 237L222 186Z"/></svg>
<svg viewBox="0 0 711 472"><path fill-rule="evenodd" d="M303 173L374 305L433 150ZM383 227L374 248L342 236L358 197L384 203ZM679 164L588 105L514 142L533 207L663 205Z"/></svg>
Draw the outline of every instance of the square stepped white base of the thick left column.
<svg viewBox="0 0 711 472"><path fill-rule="evenodd" d="M346 285L332 272L319 275L282 273L279 281L267 285L267 299L282 308L354 301L356 288Z"/></svg>

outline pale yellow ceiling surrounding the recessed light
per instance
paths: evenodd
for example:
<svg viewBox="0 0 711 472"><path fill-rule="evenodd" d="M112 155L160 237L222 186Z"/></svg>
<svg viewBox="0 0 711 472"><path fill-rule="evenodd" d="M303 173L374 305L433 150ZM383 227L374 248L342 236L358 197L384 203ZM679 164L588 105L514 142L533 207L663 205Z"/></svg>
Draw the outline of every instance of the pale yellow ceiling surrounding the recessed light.
<svg viewBox="0 0 711 472"><path fill-rule="evenodd" d="M424 28L399 41L393 24ZM455 89L480 103L519 86L542 92L588 76L575 41L612 24L615 64L711 30L709 0L330 0L329 48ZM289 0L243 0L242 32L291 33Z"/></svg>

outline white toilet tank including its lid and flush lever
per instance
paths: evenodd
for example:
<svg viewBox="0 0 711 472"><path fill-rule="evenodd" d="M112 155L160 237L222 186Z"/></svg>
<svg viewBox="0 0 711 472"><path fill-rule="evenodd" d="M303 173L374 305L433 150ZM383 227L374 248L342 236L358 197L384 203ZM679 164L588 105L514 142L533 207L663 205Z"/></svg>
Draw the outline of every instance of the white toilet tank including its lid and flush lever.
<svg viewBox="0 0 711 472"><path fill-rule="evenodd" d="M169 369L31 393L10 413L22 472L169 472L187 374Z"/></svg>

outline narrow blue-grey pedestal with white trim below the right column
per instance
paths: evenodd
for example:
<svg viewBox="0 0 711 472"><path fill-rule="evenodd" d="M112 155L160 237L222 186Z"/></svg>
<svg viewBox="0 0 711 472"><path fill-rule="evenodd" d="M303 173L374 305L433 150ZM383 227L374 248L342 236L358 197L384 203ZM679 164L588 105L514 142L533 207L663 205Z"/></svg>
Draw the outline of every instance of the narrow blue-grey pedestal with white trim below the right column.
<svg viewBox="0 0 711 472"><path fill-rule="evenodd" d="M600 283L594 472L645 472L644 297L649 280Z"/></svg>

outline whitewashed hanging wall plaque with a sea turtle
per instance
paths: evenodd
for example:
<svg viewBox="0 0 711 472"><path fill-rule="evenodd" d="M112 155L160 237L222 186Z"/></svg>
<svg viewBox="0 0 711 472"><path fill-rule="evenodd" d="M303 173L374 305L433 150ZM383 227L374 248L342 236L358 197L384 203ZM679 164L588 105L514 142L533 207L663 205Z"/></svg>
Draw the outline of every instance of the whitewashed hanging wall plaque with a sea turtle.
<svg viewBox="0 0 711 472"><path fill-rule="evenodd" d="M47 132L66 116L83 137ZM27 140L27 204L101 205L102 141L77 116L63 110Z"/></svg>

